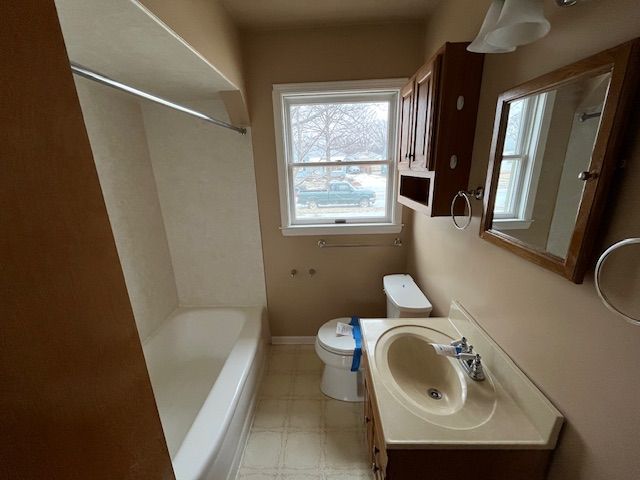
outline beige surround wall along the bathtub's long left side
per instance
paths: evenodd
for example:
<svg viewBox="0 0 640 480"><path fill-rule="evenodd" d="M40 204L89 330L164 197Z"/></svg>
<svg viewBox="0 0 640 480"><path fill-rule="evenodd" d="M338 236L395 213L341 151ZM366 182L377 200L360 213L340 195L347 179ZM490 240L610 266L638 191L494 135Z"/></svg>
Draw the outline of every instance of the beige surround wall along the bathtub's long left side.
<svg viewBox="0 0 640 480"><path fill-rule="evenodd" d="M178 293L140 104L82 78L76 77L76 87L138 333L144 340L178 306Z"/></svg>

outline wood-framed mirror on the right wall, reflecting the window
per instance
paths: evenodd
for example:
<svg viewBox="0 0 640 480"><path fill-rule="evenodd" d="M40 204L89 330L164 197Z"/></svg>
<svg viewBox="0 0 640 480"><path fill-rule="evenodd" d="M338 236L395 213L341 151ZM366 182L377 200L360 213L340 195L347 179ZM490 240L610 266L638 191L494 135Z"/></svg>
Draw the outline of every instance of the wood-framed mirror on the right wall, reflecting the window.
<svg viewBox="0 0 640 480"><path fill-rule="evenodd" d="M500 96L483 238L582 281L631 106L634 45Z"/></svg>

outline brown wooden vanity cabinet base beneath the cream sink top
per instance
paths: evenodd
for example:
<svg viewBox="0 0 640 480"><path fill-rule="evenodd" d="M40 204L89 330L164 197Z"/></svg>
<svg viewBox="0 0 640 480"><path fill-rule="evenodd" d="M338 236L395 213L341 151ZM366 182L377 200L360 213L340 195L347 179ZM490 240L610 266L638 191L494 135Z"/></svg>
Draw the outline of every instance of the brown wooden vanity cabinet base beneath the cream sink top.
<svg viewBox="0 0 640 480"><path fill-rule="evenodd" d="M364 422L367 451L375 480L430 480L466 471L476 480L544 480L550 450L387 448L367 355L364 369Z"/></svg>

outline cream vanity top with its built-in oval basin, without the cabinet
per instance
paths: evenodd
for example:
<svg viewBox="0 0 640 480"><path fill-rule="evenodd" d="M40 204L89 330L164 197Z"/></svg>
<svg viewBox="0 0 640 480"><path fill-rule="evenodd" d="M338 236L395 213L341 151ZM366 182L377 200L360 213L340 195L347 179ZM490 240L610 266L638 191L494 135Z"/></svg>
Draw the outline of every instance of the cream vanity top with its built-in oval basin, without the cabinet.
<svg viewBox="0 0 640 480"><path fill-rule="evenodd" d="M447 317L364 318L371 408L387 449L553 449L563 416L478 322L452 302ZM466 337L484 381L430 343Z"/></svg>

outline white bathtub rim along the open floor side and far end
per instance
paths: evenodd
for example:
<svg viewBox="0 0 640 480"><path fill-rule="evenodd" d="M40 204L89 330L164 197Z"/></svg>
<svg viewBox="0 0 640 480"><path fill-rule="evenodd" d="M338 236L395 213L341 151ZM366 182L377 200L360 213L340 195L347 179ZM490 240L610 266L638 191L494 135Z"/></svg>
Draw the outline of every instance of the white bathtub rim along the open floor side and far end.
<svg viewBox="0 0 640 480"><path fill-rule="evenodd" d="M184 308L184 307L182 307ZM190 307L186 307L190 308ZM195 307L207 308L207 307ZM233 308L233 307L210 307ZM242 394L261 339L260 307L237 307L247 312L247 322L224 366L172 459L178 480L204 476L215 461ZM253 310L254 315L250 314ZM239 379L239 380L238 380ZM233 385L233 388L230 388ZM224 412L221 415L220 412ZM206 417L206 418L205 418ZM206 445L206 448L203 448Z"/></svg>

